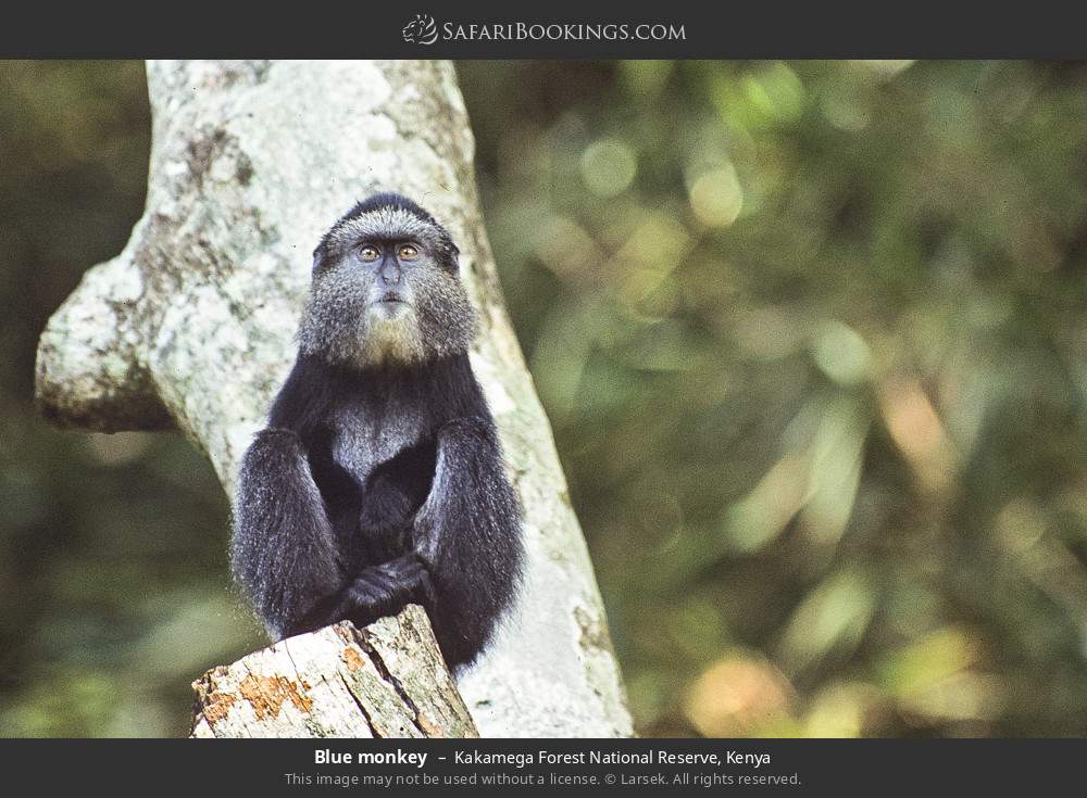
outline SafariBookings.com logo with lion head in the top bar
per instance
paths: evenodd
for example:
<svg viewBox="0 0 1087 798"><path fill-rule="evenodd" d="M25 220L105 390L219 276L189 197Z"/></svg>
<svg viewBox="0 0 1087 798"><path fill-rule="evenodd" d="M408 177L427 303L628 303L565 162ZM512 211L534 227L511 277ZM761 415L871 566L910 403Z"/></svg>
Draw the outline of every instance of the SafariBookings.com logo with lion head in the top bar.
<svg viewBox="0 0 1087 798"><path fill-rule="evenodd" d="M429 14L415 18L400 31L409 45L442 41L685 41L687 31L676 23L553 23L523 22L458 24L446 22L438 27Z"/></svg>

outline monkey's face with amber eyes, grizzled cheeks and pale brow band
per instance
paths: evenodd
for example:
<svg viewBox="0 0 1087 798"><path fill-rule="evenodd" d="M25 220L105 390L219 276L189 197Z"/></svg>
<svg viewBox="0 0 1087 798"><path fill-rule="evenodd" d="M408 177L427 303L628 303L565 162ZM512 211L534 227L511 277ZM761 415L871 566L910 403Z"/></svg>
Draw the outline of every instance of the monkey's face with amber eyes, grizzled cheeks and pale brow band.
<svg viewBox="0 0 1087 798"><path fill-rule="evenodd" d="M420 364L465 352L475 314L446 231L400 210L341 220L314 259L301 345L330 363Z"/></svg>

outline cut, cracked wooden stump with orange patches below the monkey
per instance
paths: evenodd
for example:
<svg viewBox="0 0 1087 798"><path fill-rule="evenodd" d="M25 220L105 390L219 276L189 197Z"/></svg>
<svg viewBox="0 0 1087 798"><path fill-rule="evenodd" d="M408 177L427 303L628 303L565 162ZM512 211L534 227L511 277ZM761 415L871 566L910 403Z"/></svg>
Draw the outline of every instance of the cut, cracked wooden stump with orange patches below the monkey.
<svg viewBox="0 0 1087 798"><path fill-rule="evenodd" d="M478 737L426 612L289 637L192 683L193 737Z"/></svg>

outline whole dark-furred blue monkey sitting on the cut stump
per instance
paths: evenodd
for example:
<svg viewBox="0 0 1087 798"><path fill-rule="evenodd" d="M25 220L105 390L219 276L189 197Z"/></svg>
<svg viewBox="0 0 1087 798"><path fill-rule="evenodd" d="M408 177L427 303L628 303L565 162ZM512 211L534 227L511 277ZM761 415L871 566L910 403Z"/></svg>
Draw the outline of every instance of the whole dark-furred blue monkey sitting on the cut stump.
<svg viewBox="0 0 1087 798"><path fill-rule="evenodd" d="M511 604L521 508L468 364L457 258L397 194L355 205L314 252L298 359L242 461L232 544L276 638L415 601L457 668Z"/></svg>

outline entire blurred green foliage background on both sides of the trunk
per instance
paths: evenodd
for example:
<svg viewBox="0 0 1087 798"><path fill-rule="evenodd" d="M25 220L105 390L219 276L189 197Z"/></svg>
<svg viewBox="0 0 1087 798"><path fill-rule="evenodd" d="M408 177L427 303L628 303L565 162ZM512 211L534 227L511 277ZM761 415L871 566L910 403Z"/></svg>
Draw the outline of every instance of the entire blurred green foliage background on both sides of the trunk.
<svg viewBox="0 0 1087 798"><path fill-rule="evenodd" d="M638 730L1087 733L1087 67L459 73ZM0 63L3 734L179 734L260 639L200 456L30 401L148 125L138 63Z"/></svg>

